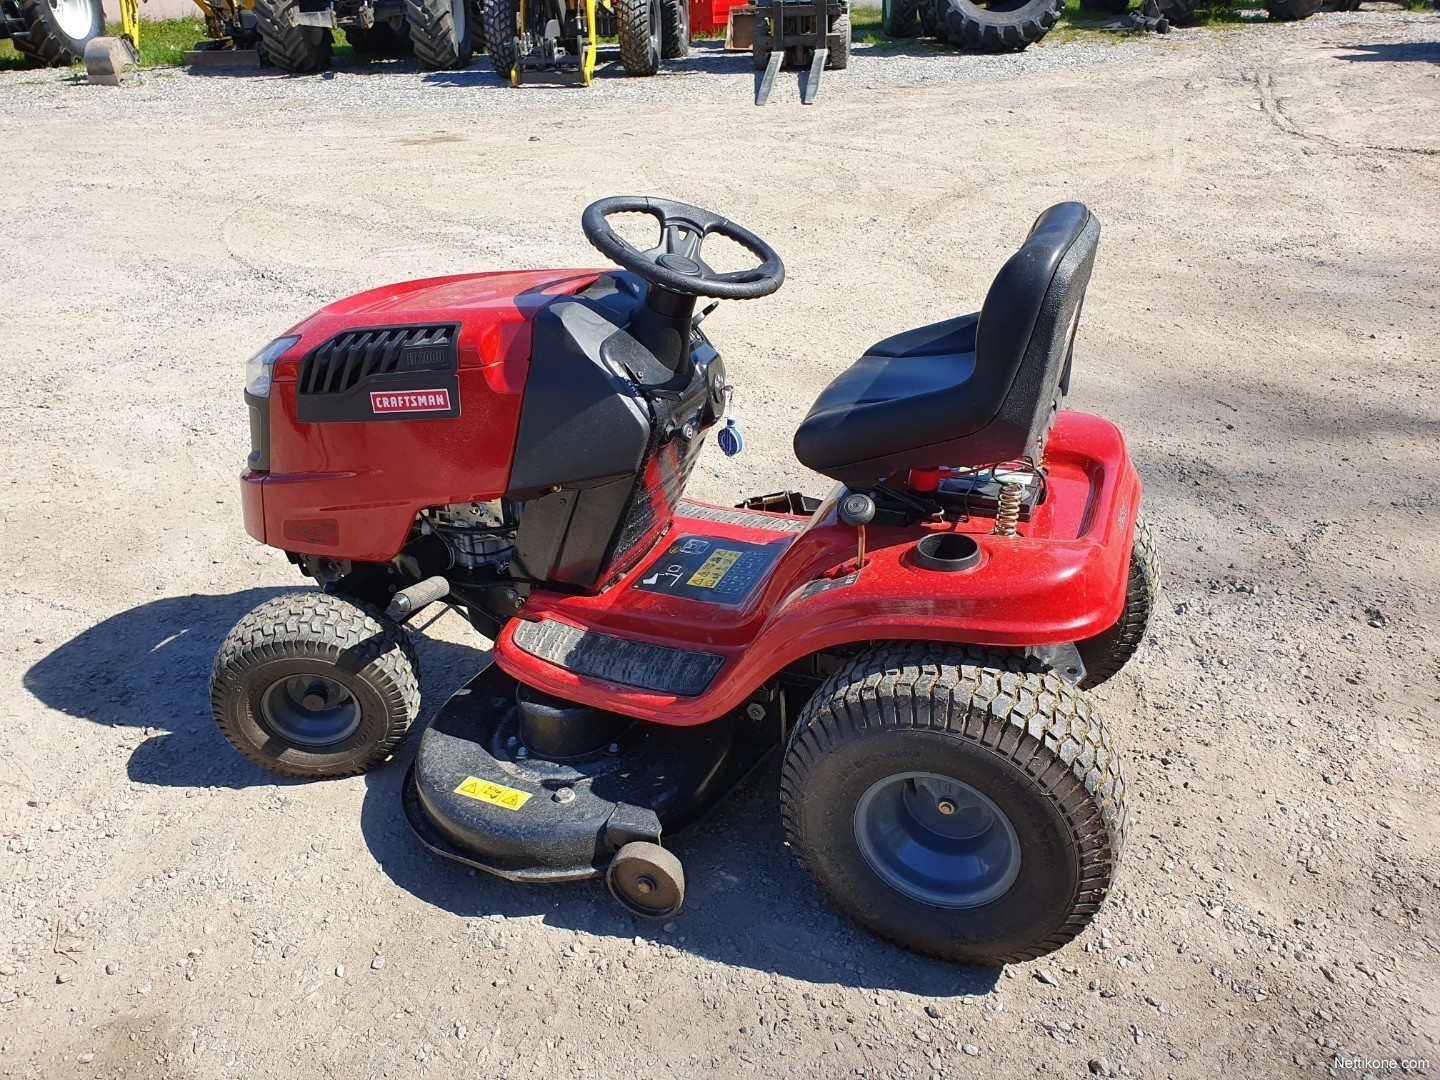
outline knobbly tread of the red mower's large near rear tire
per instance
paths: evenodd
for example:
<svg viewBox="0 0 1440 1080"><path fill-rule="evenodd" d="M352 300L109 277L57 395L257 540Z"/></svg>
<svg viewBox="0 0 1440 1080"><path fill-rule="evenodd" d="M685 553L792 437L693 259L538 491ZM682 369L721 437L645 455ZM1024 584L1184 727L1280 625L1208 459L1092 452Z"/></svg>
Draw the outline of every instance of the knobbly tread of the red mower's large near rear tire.
<svg viewBox="0 0 1440 1080"><path fill-rule="evenodd" d="M1125 848L1125 773L1109 730L1084 694L1038 661L1009 649L932 642L877 645L832 674L809 700L786 749L780 814L791 848L821 891L850 913L845 897L824 883L806 857L799 828L799 792L806 775L842 742L907 727L949 732L1009 759L1054 801L1080 848L1070 917L1043 940L989 962L1035 959L1076 937L1109 894ZM887 937L881 929L874 932Z"/></svg>

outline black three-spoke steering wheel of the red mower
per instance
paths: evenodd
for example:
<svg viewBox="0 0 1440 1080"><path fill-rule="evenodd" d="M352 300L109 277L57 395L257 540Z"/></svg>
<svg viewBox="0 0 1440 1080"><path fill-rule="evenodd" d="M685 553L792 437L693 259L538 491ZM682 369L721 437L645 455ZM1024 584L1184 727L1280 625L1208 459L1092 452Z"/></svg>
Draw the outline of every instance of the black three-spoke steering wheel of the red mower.
<svg viewBox="0 0 1440 1080"><path fill-rule="evenodd" d="M618 213L648 213L660 222L660 245L641 251L615 235L608 217ZM585 238L608 259L638 274L652 285L685 297L757 300L785 281L785 264L775 248L749 229L698 206L670 199L618 194L585 207L580 217ZM700 258L706 236L726 236L760 259L752 269L719 274Z"/></svg>

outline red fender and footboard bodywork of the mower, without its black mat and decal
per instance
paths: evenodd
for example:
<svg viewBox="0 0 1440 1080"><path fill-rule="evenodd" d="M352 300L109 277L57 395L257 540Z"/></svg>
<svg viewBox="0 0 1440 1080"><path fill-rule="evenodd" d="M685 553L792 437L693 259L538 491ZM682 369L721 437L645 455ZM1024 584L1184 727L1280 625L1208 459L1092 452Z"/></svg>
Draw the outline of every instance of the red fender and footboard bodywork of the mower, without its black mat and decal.
<svg viewBox="0 0 1440 1080"><path fill-rule="evenodd" d="M677 517L665 534L701 534L775 544L783 554L740 608L632 588L657 556L641 560L596 596L539 590L526 618L724 657L698 697L657 694L577 675L513 641L495 642L495 662L517 680L585 704L661 724L698 724L739 706L780 668L821 649L857 641L922 639L981 645L1073 642L1115 625L1125 606L1140 482L1115 425L1066 412L1045 452L1048 498L1015 539L988 536L994 521L867 530L865 566L854 585L802 598L812 582L844 576L857 557L855 530L827 503L801 534ZM782 516L775 516L780 518ZM940 573L914 562L914 544L935 530L971 533L981 546L972 570Z"/></svg>

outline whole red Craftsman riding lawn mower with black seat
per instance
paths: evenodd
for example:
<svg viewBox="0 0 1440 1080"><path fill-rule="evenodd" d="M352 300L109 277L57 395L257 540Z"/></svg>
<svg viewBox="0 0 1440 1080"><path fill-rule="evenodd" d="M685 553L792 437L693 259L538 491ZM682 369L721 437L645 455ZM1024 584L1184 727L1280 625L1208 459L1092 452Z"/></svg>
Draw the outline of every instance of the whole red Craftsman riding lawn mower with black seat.
<svg viewBox="0 0 1440 1080"><path fill-rule="evenodd" d="M1084 690L1135 652L1156 585L1120 432L1058 408L1099 222L1045 210L978 314L821 393L795 452L827 497L734 507L684 497L711 428L740 445L696 302L775 292L779 255L662 199L602 199L583 228L622 269L390 285L251 361L245 526L321 588L230 631L220 730L288 776L379 765L419 711L403 624L444 602L494 662L405 783L435 852L605 877L670 917L662 844L780 750L789 844L857 923L966 963L1060 948L1125 841ZM759 265L717 272L708 236Z"/></svg>

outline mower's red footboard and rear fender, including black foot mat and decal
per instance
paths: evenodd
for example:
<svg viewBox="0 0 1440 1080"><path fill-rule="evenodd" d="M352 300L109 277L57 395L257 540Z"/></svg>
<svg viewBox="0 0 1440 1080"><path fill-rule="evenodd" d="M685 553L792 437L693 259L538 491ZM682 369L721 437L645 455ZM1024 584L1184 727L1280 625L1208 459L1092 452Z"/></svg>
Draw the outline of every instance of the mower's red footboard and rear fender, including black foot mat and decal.
<svg viewBox="0 0 1440 1080"><path fill-rule="evenodd" d="M991 536L994 514L976 498L958 524L870 526L863 567L834 498L808 517L684 503L657 552L605 592L531 593L495 662L572 701L703 724L786 664L837 645L1081 641L1123 608L1139 480L1119 431L1083 413L1060 415L1045 465L1045 498L1020 536ZM979 557L923 564L917 540L932 533L973 539Z"/></svg>

